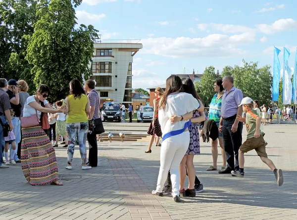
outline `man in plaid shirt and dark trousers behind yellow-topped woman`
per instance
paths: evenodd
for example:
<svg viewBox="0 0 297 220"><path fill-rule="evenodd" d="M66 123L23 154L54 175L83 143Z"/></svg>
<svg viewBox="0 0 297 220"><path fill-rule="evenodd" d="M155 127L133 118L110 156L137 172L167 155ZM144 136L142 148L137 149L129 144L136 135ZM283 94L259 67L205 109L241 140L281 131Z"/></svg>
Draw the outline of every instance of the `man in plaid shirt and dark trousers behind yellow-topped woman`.
<svg viewBox="0 0 297 220"><path fill-rule="evenodd" d="M88 94L88 98L90 100L91 113L89 116L89 120L99 119L99 106L100 106L100 96L95 89L95 82L93 80L87 80L85 82L85 89ZM91 132L87 134L87 139L89 143L89 163L87 163L91 167L97 167L98 164L98 144L96 133Z"/></svg>

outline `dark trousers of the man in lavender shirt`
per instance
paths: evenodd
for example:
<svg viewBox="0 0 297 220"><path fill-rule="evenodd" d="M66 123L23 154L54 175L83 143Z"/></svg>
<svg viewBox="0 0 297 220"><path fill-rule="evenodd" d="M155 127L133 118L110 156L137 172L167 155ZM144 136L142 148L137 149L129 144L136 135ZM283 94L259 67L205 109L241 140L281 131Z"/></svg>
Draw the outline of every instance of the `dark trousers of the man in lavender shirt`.
<svg viewBox="0 0 297 220"><path fill-rule="evenodd" d="M227 166L231 170L239 170L238 162L238 150L243 142L242 132L243 123L238 123L237 132L233 133L231 131L232 125L234 124L236 115L227 119L223 119L223 143L226 152ZM234 163L235 156L235 163Z"/></svg>

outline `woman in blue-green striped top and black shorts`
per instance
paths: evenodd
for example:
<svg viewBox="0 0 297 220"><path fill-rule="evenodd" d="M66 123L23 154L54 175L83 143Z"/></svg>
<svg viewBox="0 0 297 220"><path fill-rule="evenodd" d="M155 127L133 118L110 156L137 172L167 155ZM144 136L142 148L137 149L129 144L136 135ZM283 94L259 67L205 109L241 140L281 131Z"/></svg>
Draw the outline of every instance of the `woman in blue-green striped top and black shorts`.
<svg viewBox="0 0 297 220"><path fill-rule="evenodd" d="M209 120L213 120L216 123L218 129L219 129L219 123L221 120L221 106L222 106L222 98L224 94L224 88L222 86L222 83L223 83L222 79L218 79L215 81L213 88L217 93L213 96L211 103L209 104ZM223 159L223 166L221 170L224 170L227 167L226 154L225 154L224 145L223 145L223 136L222 136L222 133L219 132L219 138L211 141L212 166L210 166L206 171L217 170L218 141L220 143L222 159Z"/></svg>

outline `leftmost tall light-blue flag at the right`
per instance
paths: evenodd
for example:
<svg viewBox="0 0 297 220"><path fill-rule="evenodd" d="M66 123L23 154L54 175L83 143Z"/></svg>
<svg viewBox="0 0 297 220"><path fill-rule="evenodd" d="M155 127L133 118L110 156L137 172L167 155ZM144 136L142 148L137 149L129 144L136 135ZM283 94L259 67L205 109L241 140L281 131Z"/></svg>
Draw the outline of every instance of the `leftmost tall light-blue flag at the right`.
<svg viewBox="0 0 297 220"><path fill-rule="evenodd" d="M280 95L281 64L278 58L280 49L274 47L272 101L278 101Z"/></svg>

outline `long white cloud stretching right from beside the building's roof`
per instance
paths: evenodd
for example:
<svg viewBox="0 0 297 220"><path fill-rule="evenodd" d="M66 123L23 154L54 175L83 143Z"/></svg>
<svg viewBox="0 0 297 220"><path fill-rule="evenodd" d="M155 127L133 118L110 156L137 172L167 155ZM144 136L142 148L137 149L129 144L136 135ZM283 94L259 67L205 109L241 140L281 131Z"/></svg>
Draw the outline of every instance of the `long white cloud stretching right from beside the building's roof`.
<svg viewBox="0 0 297 220"><path fill-rule="evenodd" d="M255 41L255 33L240 35L212 34L204 38L150 38L142 40L144 49L140 53L166 57L236 57L247 54L240 45Z"/></svg>

